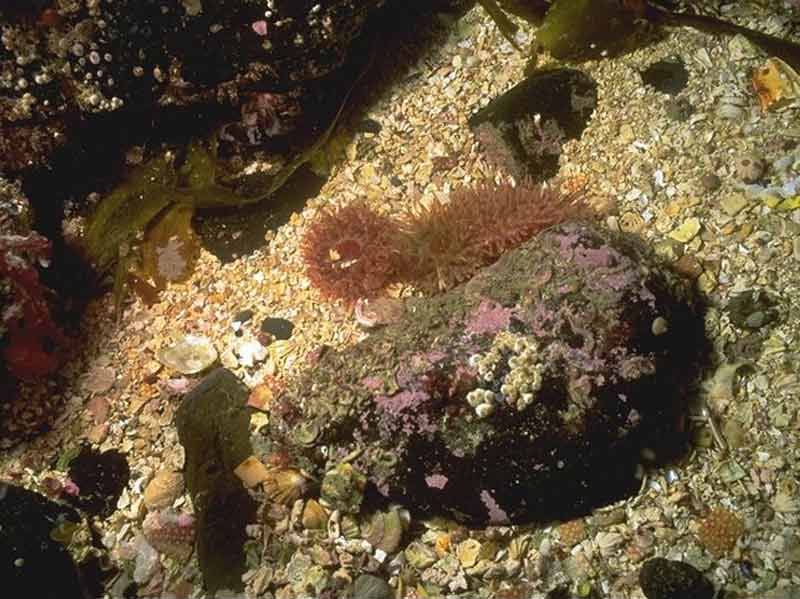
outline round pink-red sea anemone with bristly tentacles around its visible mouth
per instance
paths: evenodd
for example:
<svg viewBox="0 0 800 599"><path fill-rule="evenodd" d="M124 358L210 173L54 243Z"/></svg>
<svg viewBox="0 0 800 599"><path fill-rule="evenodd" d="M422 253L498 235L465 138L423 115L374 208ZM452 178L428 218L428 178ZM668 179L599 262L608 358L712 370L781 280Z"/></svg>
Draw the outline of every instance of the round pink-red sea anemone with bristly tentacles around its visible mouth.
<svg viewBox="0 0 800 599"><path fill-rule="evenodd" d="M396 230L363 203L324 212L301 246L309 280L322 295L348 304L377 296L394 274Z"/></svg>

